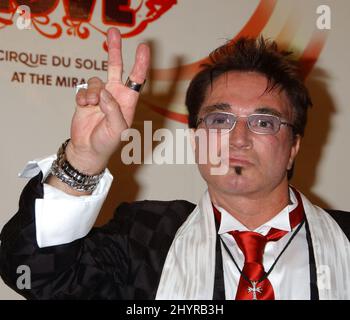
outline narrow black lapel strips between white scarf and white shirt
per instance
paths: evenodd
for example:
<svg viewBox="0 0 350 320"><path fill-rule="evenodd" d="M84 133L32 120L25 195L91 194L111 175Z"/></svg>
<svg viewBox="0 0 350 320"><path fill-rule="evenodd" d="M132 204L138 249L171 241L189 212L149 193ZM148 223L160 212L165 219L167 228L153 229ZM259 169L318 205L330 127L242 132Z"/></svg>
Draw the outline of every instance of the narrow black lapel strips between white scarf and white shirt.
<svg viewBox="0 0 350 320"><path fill-rule="evenodd" d="M216 225L218 230L218 225ZM310 265L310 300L319 300L317 288L317 273L314 256L314 249L311 240L309 224L305 218L306 240L309 249L309 265ZM222 252L219 238L216 238L216 254L215 254L215 281L213 300L225 300L225 283L224 269L222 265Z"/></svg>

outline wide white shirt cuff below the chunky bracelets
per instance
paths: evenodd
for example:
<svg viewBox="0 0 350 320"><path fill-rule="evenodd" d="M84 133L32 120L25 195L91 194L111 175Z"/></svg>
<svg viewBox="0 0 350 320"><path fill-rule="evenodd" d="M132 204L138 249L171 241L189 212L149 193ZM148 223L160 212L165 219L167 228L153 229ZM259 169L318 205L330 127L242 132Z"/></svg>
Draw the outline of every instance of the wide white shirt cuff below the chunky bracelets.
<svg viewBox="0 0 350 320"><path fill-rule="evenodd" d="M48 175L55 155L29 161L19 174L32 178L40 171L43 181ZM111 187L113 176L107 169L91 195L72 196L44 183L44 198L35 200L36 240L40 248L72 242L86 236Z"/></svg>

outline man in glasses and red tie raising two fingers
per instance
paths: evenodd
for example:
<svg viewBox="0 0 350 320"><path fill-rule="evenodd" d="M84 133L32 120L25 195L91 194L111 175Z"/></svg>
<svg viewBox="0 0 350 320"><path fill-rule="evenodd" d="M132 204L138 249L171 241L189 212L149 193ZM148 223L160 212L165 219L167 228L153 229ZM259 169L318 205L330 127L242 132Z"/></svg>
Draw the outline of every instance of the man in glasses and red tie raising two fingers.
<svg viewBox="0 0 350 320"><path fill-rule="evenodd" d="M287 53L262 39L218 48L189 86L189 126L229 137L217 150L225 174L198 165L208 185L198 205L124 203L91 230L149 64L140 45L124 85L116 29L108 47L107 83L78 92L71 139L27 167L40 173L1 234L4 281L33 299L349 299L350 216L288 184L311 101ZM19 265L28 290L16 288Z"/></svg>

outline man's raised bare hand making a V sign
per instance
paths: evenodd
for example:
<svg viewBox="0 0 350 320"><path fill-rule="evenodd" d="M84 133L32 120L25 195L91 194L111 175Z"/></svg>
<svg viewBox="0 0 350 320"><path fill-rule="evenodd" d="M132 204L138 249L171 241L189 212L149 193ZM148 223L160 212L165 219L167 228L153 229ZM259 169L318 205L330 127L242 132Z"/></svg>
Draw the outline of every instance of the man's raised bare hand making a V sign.
<svg viewBox="0 0 350 320"><path fill-rule="evenodd" d="M79 90L71 141L66 149L67 159L73 167L87 174L96 174L107 166L121 141L122 131L131 126L139 98L139 92L122 82L123 60L118 29L108 30L107 44L107 83L95 77L89 79L87 89ZM149 61L148 46L140 44L129 78L142 84Z"/></svg>

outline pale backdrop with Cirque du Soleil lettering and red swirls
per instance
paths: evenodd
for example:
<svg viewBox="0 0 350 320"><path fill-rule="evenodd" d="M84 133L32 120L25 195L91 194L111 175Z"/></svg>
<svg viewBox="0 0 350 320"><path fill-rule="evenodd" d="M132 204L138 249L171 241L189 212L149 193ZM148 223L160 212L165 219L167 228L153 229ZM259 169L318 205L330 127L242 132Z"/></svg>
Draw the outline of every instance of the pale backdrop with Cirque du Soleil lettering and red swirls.
<svg viewBox="0 0 350 320"><path fill-rule="evenodd" d="M263 34L294 50L314 106L292 182L316 204L350 211L349 9L347 0L0 0L0 228L16 212L26 183L18 172L69 137L74 86L106 78L110 26L123 34L125 77L137 44L152 48L134 122L141 131L145 120L153 132L186 128L189 79L225 41ZM152 148L143 162L152 163ZM123 165L117 152L109 168L115 180L97 224L121 201L196 202L205 189L191 164ZM0 299L20 296L0 282Z"/></svg>

